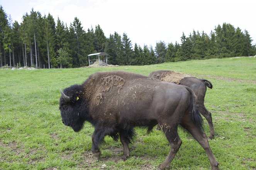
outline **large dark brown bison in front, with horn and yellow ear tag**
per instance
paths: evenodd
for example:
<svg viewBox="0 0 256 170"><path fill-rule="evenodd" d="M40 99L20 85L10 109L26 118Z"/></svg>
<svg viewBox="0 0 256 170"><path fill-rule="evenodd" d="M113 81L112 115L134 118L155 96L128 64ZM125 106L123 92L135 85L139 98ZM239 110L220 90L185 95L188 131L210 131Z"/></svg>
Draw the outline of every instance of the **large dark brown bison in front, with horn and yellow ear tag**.
<svg viewBox="0 0 256 170"><path fill-rule="evenodd" d="M218 162L202 130L202 117L197 111L195 93L189 87L153 80L136 73L113 71L97 72L81 85L72 85L61 91L59 110L62 122L75 132L83 123L92 123L92 152L99 159L99 144L106 135L120 138L124 151L122 159L130 155L134 127L146 126L148 132L159 124L163 129L170 152L158 167L169 168L181 139L177 127L186 128L207 153L212 169Z"/></svg>

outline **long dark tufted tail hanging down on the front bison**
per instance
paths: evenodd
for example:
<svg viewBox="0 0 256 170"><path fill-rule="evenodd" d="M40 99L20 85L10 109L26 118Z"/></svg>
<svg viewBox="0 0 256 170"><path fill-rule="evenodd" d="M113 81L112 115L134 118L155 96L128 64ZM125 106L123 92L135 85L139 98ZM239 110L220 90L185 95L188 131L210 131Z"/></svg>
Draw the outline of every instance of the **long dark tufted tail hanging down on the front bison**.
<svg viewBox="0 0 256 170"><path fill-rule="evenodd" d="M186 89L192 94L192 121L195 123L196 127L203 132L203 118L200 115L196 104L197 96L195 95L195 92L191 88L186 87Z"/></svg>

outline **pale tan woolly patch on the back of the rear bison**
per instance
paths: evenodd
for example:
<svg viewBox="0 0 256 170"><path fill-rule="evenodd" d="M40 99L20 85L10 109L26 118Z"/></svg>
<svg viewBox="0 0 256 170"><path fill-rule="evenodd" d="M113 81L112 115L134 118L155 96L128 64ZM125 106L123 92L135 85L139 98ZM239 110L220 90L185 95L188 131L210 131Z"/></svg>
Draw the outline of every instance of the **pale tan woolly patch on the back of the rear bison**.
<svg viewBox="0 0 256 170"><path fill-rule="evenodd" d="M164 82L170 82L170 83L176 83L176 84L180 84L180 81L185 77L191 77L191 76L183 74L183 73L179 73L179 72L174 72L174 71L163 72L160 74L154 74L154 78L157 80L161 80Z"/></svg>

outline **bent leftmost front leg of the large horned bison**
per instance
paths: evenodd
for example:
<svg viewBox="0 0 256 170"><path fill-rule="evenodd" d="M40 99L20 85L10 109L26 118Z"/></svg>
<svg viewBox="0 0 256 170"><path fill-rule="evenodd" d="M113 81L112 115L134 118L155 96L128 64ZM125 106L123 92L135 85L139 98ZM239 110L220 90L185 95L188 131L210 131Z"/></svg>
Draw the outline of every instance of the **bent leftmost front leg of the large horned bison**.
<svg viewBox="0 0 256 170"><path fill-rule="evenodd" d="M92 153L95 157L100 159L99 145L105 137L105 133L102 130L95 129L92 135Z"/></svg>

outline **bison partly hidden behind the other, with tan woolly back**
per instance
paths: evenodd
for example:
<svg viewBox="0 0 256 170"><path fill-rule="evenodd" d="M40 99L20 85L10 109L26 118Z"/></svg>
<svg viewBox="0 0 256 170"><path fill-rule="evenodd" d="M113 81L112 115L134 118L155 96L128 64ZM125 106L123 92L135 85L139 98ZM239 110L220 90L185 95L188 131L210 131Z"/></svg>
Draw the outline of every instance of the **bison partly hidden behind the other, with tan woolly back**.
<svg viewBox="0 0 256 170"><path fill-rule="evenodd" d="M206 118L209 127L210 127L210 136L212 139L215 136L214 126L212 123L212 114L207 110L204 105L204 98L206 93L206 87L212 88L212 83L206 79L200 79L196 77L190 77L183 73L168 71L168 70L159 70L151 72L149 77L155 78L164 82L176 83L180 85L185 85L192 88L197 96L197 107L199 112ZM159 129L159 126L158 126Z"/></svg>

